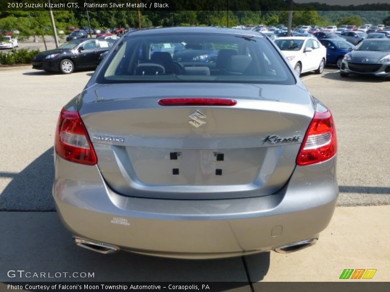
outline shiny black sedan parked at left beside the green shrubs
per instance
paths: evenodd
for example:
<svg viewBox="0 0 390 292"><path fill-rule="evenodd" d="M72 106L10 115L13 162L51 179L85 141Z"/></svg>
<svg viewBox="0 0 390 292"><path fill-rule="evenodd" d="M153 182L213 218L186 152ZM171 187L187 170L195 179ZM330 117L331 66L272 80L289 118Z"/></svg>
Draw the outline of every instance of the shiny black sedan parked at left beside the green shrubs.
<svg viewBox="0 0 390 292"><path fill-rule="evenodd" d="M75 39L57 49L35 55L32 61L33 69L69 74L76 69L96 68L100 55L109 49L110 46L105 40Z"/></svg>

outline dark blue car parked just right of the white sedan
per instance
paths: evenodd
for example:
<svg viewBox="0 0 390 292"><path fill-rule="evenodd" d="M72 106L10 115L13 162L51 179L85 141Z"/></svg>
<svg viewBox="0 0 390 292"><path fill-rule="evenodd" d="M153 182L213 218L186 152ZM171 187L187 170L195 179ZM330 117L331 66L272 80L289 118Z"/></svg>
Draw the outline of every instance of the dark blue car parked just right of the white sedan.
<svg viewBox="0 0 390 292"><path fill-rule="evenodd" d="M326 63L335 64L338 68L341 68L344 55L355 47L350 42L340 38L326 38L319 39L319 41L326 48Z"/></svg>

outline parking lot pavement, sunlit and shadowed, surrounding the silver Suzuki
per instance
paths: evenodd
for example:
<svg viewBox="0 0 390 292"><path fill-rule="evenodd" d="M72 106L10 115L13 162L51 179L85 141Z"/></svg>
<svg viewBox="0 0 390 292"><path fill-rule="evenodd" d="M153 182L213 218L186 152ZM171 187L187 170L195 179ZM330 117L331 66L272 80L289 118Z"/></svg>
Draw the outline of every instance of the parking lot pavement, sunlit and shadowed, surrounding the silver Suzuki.
<svg viewBox="0 0 390 292"><path fill-rule="evenodd" d="M88 280L95 281L336 281L348 267L378 269L373 280L390 281L390 254L384 252L390 240L389 80L341 78L335 67L302 76L331 109L339 147L339 207L315 246L289 255L189 261L80 249L49 212L55 210L52 152L59 111L91 75L0 69L0 234L6 238L0 241L0 281L12 280L6 276L11 268L92 271L96 278Z"/></svg>

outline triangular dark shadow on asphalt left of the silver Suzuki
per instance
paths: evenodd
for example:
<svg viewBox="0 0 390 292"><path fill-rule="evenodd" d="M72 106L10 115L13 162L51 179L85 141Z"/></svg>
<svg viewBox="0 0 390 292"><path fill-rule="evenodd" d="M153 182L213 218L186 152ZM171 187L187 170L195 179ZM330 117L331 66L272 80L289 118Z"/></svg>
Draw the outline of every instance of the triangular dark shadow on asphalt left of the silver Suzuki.
<svg viewBox="0 0 390 292"><path fill-rule="evenodd" d="M0 194L1 211L53 211L53 147L46 150L20 173L0 173L13 178Z"/></svg>

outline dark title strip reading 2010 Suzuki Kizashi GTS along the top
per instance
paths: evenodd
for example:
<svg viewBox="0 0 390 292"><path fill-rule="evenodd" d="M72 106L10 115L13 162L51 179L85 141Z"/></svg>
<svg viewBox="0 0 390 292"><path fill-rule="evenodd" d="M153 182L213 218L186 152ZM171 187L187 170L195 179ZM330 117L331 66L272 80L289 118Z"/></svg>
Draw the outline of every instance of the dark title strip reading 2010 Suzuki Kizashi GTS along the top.
<svg viewBox="0 0 390 292"><path fill-rule="evenodd" d="M320 3L319 3L319 2ZM289 0L1 0L0 11L34 10L142 10L142 11L284 11ZM355 0L353 5L331 5L332 0L293 2L293 10L390 11L390 1ZM342 2L341 2L342 3Z"/></svg>

